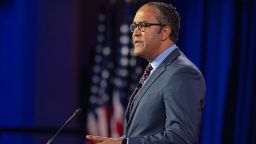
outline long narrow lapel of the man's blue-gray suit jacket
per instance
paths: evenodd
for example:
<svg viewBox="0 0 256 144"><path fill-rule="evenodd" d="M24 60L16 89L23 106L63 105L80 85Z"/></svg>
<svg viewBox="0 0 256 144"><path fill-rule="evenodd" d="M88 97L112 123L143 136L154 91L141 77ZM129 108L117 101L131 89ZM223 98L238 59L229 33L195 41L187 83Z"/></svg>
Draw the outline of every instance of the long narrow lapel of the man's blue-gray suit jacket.
<svg viewBox="0 0 256 144"><path fill-rule="evenodd" d="M134 113L139 105L141 98L144 96L145 92L149 89L149 87L153 84L153 82L156 81L157 78L165 71L166 66L170 65L180 55L181 55L181 51L179 50L179 48L176 48L171 54L169 54L164 59L164 61L158 66L158 68L150 75L150 77L147 79L143 87L141 87L141 89L139 90L139 95L137 97L137 100L135 101L135 104L133 106L130 118L128 119L126 117L128 120L127 126L129 126L131 120L133 119ZM129 101L129 105L130 105L130 101Z"/></svg>

